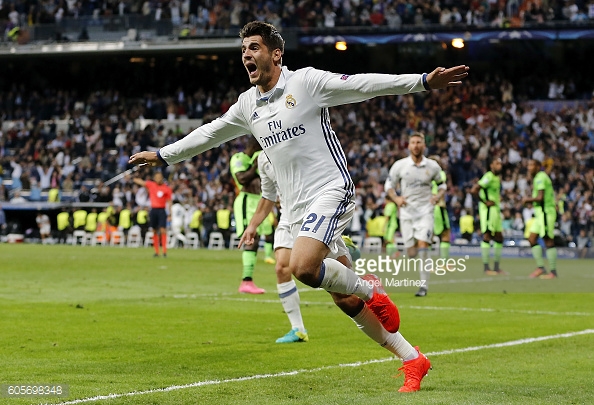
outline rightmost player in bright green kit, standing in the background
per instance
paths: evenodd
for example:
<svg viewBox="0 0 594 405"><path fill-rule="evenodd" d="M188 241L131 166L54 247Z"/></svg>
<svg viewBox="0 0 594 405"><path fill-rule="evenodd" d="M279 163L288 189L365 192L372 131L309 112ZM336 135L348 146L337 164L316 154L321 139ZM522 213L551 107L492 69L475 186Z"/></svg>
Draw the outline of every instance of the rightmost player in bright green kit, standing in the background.
<svg viewBox="0 0 594 405"><path fill-rule="evenodd" d="M534 158L528 161L528 174L532 177L532 197L524 197L522 202L534 205L534 220L530 226L528 241L532 246L532 256L536 260L537 268L530 274L530 277L553 279L557 278L557 248L554 239L557 209L553 182L546 172L540 170L541 166L542 162ZM547 273L544 266L542 247L538 244L539 237L544 239L547 247L550 273Z"/></svg>

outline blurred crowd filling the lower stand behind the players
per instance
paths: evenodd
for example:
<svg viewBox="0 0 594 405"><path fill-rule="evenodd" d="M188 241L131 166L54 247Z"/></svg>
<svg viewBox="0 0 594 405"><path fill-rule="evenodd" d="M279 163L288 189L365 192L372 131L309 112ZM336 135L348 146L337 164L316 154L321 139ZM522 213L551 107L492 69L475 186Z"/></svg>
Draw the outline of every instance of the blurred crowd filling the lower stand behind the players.
<svg viewBox="0 0 594 405"><path fill-rule="evenodd" d="M552 81L550 88L556 99L558 82ZM109 187L102 183L129 168L130 154L174 142L192 129L179 125L165 129L163 123L178 118L209 122L224 113L242 90L198 90L190 95L180 89L166 98L127 99L115 91L39 94L15 85L12 91L0 93L5 128L0 132L0 201L103 202L113 206L114 214L128 207L134 216L148 206L146 191L134 185L130 176ZM527 160L538 157L554 182L562 236L576 240L581 230L591 236L594 99L550 112L518 99L509 82L495 77L447 91L332 108L332 125L357 186L350 232L369 234L366 224L382 216L388 170L407 155L408 134L422 131L426 154L439 155L448 174L447 208L454 235L462 233L460 217L477 214L470 187L485 172L489 158L500 156L507 234L522 234L532 217L531 208L522 206L521 199L531 193ZM139 118L162 121L141 128ZM58 119L68 125L58 129ZM195 220L201 221L203 236L217 229L217 212L232 204L236 190L229 160L245 143L246 137L241 137L164 169L174 202L188 210L188 218L199 210L200 218Z"/></svg>

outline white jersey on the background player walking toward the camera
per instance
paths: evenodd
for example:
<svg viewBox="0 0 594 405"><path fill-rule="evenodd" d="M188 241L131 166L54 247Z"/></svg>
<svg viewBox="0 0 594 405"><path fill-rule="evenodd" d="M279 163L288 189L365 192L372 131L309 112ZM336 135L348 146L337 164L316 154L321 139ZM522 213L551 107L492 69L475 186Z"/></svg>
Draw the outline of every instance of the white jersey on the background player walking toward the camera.
<svg viewBox="0 0 594 405"><path fill-rule="evenodd" d="M400 195L406 198L406 205L398 210L400 219L433 216L435 206L431 204L433 195L431 182L435 180L439 187L445 187L440 172L439 164L425 156L418 166L410 156L397 160L392 165L384 189L388 191L400 186Z"/></svg>

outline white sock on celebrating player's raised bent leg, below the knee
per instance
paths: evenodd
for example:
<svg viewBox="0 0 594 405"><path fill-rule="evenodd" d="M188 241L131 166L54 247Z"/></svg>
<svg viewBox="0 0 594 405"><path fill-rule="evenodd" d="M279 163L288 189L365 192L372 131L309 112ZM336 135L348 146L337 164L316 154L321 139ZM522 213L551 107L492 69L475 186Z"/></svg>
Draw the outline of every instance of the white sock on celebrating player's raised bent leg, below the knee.
<svg viewBox="0 0 594 405"><path fill-rule="evenodd" d="M326 291L354 294L363 301L367 301L373 296L373 286L335 259L324 259L320 268L319 281L318 287Z"/></svg>

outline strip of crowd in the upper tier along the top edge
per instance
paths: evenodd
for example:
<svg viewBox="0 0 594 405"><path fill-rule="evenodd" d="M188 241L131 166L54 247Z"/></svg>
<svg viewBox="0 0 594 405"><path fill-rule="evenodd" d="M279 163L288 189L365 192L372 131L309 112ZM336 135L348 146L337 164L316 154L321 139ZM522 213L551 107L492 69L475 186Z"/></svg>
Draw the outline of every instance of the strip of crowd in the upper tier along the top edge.
<svg viewBox="0 0 594 405"><path fill-rule="evenodd" d="M267 21L279 28L402 26L519 27L550 21L594 18L586 0L48 0L0 1L0 29L60 24L68 18L99 20L137 16L139 21L170 21L194 35L237 32L246 22Z"/></svg>

